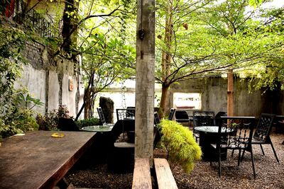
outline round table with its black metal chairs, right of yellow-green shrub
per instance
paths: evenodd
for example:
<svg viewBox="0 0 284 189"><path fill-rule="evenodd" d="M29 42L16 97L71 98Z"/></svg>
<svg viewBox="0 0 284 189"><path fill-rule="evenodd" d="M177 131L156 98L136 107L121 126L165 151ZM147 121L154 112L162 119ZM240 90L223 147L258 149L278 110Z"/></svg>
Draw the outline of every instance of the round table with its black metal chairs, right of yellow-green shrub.
<svg viewBox="0 0 284 189"><path fill-rule="evenodd" d="M220 113L225 115L225 113ZM251 154L253 176L256 171L253 159L253 144L258 144L264 155L262 144L270 144L276 161L279 162L271 141L271 129L275 115L262 113L256 125L255 117L214 116L212 111L193 112L193 132L202 147L204 161L218 162L218 174L221 176L221 163L226 160L227 150L238 150L238 166L244 158L245 151ZM216 124L216 122L218 122Z"/></svg>

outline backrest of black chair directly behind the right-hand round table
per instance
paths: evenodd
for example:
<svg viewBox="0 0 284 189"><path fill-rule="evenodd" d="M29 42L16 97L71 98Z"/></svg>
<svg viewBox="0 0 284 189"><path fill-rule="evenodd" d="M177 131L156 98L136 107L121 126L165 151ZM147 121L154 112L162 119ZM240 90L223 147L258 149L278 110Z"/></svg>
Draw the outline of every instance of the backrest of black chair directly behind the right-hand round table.
<svg viewBox="0 0 284 189"><path fill-rule="evenodd" d="M193 111L192 117L193 127L216 125L213 111Z"/></svg>

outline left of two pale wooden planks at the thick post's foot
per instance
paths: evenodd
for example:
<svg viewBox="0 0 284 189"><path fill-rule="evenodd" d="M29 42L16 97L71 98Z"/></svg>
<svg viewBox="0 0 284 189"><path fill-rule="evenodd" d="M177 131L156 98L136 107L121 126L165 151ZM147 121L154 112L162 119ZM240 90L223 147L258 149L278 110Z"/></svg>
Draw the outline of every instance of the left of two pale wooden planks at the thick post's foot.
<svg viewBox="0 0 284 189"><path fill-rule="evenodd" d="M150 164L148 158L135 159L132 189L152 188Z"/></svg>

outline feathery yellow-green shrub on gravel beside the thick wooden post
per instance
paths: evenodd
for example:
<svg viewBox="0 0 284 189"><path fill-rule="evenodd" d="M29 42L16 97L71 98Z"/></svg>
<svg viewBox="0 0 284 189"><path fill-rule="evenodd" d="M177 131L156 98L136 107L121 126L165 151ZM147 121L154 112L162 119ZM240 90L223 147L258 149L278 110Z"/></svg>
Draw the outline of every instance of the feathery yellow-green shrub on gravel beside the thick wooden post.
<svg viewBox="0 0 284 189"><path fill-rule="evenodd" d="M172 120L161 120L160 127L163 134L161 143L168 153L167 159L171 168L180 165L186 173L190 173L195 161L202 156L192 131Z"/></svg>

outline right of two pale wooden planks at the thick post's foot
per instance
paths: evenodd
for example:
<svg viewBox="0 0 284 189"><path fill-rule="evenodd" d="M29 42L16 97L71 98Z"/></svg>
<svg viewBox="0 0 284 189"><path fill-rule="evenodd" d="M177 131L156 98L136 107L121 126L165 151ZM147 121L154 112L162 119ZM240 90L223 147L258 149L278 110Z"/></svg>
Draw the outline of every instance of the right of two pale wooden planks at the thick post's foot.
<svg viewBox="0 0 284 189"><path fill-rule="evenodd" d="M158 188L160 189L178 189L173 173L166 159L154 159L155 175L157 178Z"/></svg>

